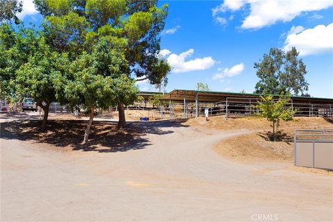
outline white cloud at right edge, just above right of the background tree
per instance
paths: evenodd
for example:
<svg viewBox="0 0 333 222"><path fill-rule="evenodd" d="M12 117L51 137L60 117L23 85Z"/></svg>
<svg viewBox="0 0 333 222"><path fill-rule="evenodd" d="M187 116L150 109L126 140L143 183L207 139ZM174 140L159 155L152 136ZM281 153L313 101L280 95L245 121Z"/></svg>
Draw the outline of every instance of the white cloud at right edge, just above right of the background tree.
<svg viewBox="0 0 333 222"><path fill-rule="evenodd" d="M300 56L333 52L333 23L304 29L299 33L289 32L284 42L284 51L295 46Z"/></svg>

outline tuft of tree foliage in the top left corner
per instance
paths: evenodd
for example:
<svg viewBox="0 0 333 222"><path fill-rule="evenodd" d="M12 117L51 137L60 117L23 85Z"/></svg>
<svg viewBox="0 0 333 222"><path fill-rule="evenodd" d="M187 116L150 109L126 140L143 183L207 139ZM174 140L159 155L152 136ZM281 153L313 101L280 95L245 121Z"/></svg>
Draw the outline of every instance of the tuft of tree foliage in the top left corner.
<svg viewBox="0 0 333 222"><path fill-rule="evenodd" d="M22 1L0 0L0 22L14 19L15 24L19 24L18 12L22 12Z"/></svg>

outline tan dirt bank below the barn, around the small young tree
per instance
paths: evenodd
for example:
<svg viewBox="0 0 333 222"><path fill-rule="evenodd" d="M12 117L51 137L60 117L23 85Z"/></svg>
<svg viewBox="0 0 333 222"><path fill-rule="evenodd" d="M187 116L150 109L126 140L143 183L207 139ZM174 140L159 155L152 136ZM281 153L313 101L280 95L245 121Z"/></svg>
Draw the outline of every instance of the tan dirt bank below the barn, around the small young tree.
<svg viewBox="0 0 333 222"><path fill-rule="evenodd" d="M281 122L279 130L283 135L281 141L271 142L271 123L260 117L242 117L225 119L210 117L189 119L187 124L194 127L216 128L219 130L251 130L248 133L215 144L214 150L224 157L237 161L293 161L293 132L296 129L333 128L332 119L321 117L299 117L294 121Z"/></svg>

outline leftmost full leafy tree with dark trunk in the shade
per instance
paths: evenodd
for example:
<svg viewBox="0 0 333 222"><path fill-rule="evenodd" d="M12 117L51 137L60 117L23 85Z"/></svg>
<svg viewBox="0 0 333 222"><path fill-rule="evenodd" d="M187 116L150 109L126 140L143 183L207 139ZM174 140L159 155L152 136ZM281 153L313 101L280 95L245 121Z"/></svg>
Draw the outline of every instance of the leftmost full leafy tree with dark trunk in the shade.
<svg viewBox="0 0 333 222"><path fill-rule="evenodd" d="M54 83L61 73L67 71L68 65L67 56L56 51L52 52L45 44L44 38L40 37L35 53L29 56L28 62L19 67L17 71L15 80L17 93L28 94L34 99L36 105L44 110L42 130L46 127L51 102L62 93L57 92Z"/></svg>

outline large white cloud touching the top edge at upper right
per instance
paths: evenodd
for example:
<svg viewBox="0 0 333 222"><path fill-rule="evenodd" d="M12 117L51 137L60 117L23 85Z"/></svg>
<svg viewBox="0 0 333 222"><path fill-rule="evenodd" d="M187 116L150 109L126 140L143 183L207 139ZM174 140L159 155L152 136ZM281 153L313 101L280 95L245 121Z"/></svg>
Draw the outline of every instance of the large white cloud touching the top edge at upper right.
<svg viewBox="0 0 333 222"><path fill-rule="evenodd" d="M333 0L225 0L213 8L213 17L226 10L240 10L250 5L250 14L244 19L241 28L262 28L278 21L290 22L302 12L318 11L333 6Z"/></svg>

